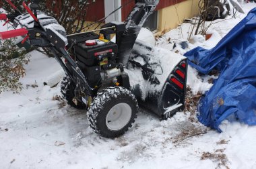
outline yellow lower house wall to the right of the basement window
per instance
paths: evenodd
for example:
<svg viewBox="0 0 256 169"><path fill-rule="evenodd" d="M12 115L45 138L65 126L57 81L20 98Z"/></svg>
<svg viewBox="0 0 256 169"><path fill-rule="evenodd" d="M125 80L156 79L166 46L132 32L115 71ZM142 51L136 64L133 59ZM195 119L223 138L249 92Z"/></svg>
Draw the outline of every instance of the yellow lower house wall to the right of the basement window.
<svg viewBox="0 0 256 169"><path fill-rule="evenodd" d="M158 11L158 33L165 33L199 13L199 0L187 0Z"/></svg>

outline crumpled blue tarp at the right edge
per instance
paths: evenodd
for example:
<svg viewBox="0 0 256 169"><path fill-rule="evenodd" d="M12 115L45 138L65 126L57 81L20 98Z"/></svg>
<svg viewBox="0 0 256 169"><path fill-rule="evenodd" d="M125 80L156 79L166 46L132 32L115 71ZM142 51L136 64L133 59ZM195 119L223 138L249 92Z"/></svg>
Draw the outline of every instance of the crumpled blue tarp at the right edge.
<svg viewBox="0 0 256 169"><path fill-rule="evenodd" d="M185 56L203 74L220 70L214 86L199 101L201 123L218 131L224 119L256 125L256 8L215 48L195 48Z"/></svg>

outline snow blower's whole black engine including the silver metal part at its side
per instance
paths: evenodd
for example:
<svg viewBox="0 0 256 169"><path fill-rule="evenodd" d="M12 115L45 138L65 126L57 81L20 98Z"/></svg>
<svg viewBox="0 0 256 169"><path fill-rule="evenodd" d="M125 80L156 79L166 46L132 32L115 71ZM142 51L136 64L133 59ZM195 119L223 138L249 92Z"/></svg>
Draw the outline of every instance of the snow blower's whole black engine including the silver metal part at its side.
<svg viewBox="0 0 256 169"><path fill-rule="evenodd" d="M117 44L93 33L77 36L77 38L68 37L69 50L79 68L84 72L90 87L97 89L103 82L109 80L116 83L116 77L123 72L122 66L116 62Z"/></svg>

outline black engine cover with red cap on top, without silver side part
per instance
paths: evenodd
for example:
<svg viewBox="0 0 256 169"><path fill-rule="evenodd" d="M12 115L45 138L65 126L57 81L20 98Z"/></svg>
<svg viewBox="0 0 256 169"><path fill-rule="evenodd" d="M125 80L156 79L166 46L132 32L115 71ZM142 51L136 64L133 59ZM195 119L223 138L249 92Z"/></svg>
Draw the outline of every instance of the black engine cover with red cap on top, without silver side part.
<svg viewBox="0 0 256 169"><path fill-rule="evenodd" d="M70 49L75 62L86 76L90 87L101 84L101 73L116 68L117 44L104 39L86 40Z"/></svg>

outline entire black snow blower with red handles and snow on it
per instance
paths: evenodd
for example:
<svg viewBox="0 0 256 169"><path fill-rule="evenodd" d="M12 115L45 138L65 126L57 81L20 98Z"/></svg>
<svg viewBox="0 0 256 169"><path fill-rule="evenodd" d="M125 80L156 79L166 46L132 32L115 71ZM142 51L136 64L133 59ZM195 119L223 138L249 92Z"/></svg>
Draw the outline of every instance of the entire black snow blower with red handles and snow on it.
<svg viewBox="0 0 256 169"><path fill-rule="evenodd" d="M99 135L113 138L125 133L137 117L137 101L160 119L184 109L187 59L136 41L158 1L138 1L125 23L101 27L104 37L93 32L67 36L55 18L38 11L38 1L31 1L30 7L24 2L25 14L7 2L15 13L0 19L9 19L15 30L0 32L0 38L23 36L23 42L55 56L66 74L61 92L67 103L88 109L90 126Z"/></svg>

